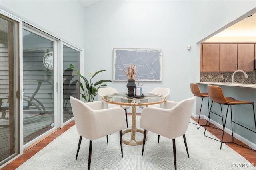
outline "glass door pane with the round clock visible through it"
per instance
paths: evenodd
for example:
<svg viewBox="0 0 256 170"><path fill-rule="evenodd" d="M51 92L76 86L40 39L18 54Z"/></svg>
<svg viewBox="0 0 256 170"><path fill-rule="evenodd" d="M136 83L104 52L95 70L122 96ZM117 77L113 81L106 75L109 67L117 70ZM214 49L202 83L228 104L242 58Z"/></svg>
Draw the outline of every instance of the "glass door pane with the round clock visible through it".
<svg viewBox="0 0 256 170"><path fill-rule="evenodd" d="M23 29L24 145L54 127L54 42Z"/></svg>

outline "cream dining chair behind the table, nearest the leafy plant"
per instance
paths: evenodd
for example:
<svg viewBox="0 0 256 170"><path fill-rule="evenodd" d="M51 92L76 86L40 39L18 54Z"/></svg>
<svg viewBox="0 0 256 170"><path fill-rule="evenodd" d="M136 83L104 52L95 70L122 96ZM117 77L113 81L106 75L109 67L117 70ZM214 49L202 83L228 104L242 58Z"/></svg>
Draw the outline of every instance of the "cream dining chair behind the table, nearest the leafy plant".
<svg viewBox="0 0 256 170"><path fill-rule="evenodd" d="M98 89L98 100L102 101L104 103L105 109L108 108L114 108L114 107L120 107L119 105L116 104L110 104L108 102L105 102L102 97L106 96L107 94L113 94L113 93L118 93L118 91L113 88L113 87L104 87L104 88L99 88ZM130 108L130 106L122 106L122 108L125 111L125 116L126 116L126 127L128 127L128 121L127 121L127 109Z"/></svg>

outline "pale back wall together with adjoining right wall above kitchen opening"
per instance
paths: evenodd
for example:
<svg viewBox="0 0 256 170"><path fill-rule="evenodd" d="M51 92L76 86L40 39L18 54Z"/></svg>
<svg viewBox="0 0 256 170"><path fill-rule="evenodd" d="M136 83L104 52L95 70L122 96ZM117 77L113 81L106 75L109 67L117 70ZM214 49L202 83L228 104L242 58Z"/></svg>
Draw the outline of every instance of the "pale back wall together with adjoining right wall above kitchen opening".
<svg viewBox="0 0 256 170"><path fill-rule="evenodd" d="M170 100L183 100L192 96L189 83L200 81L197 43L253 8L254 1L98 2L85 8L85 71L104 69L94 81L113 80L113 48L162 48L162 82L141 82L143 91L168 87ZM127 91L126 82L108 86Z"/></svg>

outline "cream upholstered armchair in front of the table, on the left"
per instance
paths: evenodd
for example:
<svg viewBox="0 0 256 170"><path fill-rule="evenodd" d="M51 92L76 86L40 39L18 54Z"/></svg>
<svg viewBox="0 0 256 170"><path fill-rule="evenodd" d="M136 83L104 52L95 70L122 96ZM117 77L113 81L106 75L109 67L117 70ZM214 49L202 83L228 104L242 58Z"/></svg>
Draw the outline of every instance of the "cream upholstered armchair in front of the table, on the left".
<svg viewBox="0 0 256 170"><path fill-rule="evenodd" d="M82 137L89 139L88 170L90 170L92 158L92 141L111 133L119 131L121 154L123 157L122 129L125 129L125 117L121 107L104 109L101 101L84 103L74 97L70 97L70 103L76 123L76 129L80 135L76 159L80 149Z"/></svg>

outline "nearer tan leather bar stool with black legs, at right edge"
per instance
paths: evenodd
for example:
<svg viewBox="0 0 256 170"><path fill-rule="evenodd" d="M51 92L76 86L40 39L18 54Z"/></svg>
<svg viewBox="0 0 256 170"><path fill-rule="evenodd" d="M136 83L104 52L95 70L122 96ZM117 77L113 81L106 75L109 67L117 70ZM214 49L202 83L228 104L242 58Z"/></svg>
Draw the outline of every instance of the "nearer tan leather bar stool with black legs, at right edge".
<svg viewBox="0 0 256 170"><path fill-rule="evenodd" d="M247 128L247 127L244 127L243 125L239 124L239 123L236 123L237 125L240 125L254 133L256 133L256 120L255 120L255 111L254 111L254 102L249 102L249 101L239 101L239 100L236 100L232 97L224 97L223 95L223 92L222 92L222 89L220 86L212 86L212 85L209 85L208 84L208 94L209 94L209 97L216 103L220 104L220 107L222 106L222 104L224 105L228 105L228 108L230 106L230 113L231 113L231 131L232 131L232 142L223 142L223 136L224 136L224 129L225 129L225 125L226 125L226 120L227 120L227 116L228 116L228 108L227 108L227 112L226 112L226 118L225 118L225 123L224 123L224 126L223 126L223 133L222 133L222 139L221 139L221 145L220 145L220 149L222 147L222 143L234 143L234 136L233 136L233 123L236 123L232 120L232 105L238 105L238 104L251 104L252 105L252 109L253 109L253 117L254 117L254 126L255 126L255 131L252 131L251 129ZM221 109L221 112L222 112L222 109ZM240 145L238 143L234 143L236 145ZM245 147L243 145L240 145L242 147ZM248 147L245 147L245 148L248 148ZM248 148L248 149L251 149L251 148ZM254 150L254 149L251 149L251 150ZM256 151L256 150L254 150Z"/></svg>

